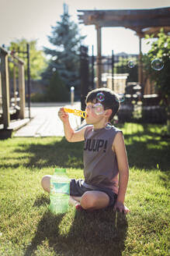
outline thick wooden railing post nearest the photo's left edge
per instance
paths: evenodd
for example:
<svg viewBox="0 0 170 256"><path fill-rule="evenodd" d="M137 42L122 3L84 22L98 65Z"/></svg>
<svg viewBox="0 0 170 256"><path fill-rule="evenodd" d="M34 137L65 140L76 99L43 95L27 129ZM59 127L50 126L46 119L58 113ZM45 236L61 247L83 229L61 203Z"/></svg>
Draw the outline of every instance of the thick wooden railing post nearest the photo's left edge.
<svg viewBox="0 0 170 256"><path fill-rule="evenodd" d="M1 76L2 76L2 112L4 129L9 126L9 68L8 68L8 52L0 48L1 53Z"/></svg>

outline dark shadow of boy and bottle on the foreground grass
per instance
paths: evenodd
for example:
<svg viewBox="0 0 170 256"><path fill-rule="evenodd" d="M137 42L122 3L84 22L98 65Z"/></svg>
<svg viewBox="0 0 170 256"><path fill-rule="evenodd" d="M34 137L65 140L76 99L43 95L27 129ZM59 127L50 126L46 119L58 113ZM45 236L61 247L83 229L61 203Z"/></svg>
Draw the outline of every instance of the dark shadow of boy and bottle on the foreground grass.
<svg viewBox="0 0 170 256"><path fill-rule="evenodd" d="M40 248L39 245L44 241L46 247L43 247L43 250L49 251L51 248L51 251L55 251L57 255L122 255L127 236L126 215L113 212L113 208L95 212L75 212L75 217L69 219L69 222L72 221L70 229L61 233L59 226L63 222L62 225L65 226L62 230L67 228L68 222L64 223L67 215L71 215L71 212L58 215L45 212L24 256L41 250L42 247Z"/></svg>

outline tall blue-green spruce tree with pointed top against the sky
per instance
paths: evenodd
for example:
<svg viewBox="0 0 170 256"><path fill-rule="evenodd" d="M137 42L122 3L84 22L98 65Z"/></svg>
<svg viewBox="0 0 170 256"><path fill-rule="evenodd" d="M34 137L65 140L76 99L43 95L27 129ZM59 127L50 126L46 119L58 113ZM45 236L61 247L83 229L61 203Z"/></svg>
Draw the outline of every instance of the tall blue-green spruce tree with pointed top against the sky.
<svg viewBox="0 0 170 256"><path fill-rule="evenodd" d="M61 21L52 27L51 34L48 38L54 47L53 49L44 48L44 52L51 58L46 72L43 73L43 80L49 81L56 69L68 91L71 86L74 86L75 92L78 92L80 91L79 48L84 37L79 34L78 25L70 20L68 5L64 4Z"/></svg>

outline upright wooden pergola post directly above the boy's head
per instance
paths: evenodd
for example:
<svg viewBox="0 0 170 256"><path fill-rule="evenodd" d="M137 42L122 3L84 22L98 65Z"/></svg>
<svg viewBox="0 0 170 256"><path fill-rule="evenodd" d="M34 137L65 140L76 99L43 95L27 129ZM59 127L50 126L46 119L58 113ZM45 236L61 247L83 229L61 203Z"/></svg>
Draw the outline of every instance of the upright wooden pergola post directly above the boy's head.
<svg viewBox="0 0 170 256"><path fill-rule="evenodd" d="M101 27L96 26L97 30L97 83L96 87L99 88L102 86L102 42L101 42Z"/></svg>

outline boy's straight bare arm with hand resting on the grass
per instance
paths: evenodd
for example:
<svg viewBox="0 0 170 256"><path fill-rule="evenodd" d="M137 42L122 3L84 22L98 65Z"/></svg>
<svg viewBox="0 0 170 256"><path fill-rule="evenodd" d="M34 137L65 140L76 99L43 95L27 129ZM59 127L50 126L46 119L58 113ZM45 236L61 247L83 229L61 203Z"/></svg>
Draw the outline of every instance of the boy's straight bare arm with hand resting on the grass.
<svg viewBox="0 0 170 256"><path fill-rule="evenodd" d="M124 205L125 194L127 191L127 183L129 179L129 166L127 162L127 151L124 144L123 134L117 133L113 140L113 151L116 153L117 164L119 169L119 191L115 204L115 208L120 212L130 212Z"/></svg>

